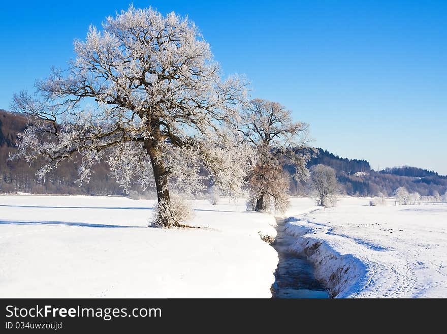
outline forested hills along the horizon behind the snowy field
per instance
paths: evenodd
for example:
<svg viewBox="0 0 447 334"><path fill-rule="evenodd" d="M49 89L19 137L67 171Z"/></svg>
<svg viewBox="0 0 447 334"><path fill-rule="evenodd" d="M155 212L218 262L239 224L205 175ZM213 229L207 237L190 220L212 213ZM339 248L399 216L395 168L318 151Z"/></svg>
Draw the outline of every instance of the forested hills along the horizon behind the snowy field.
<svg viewBox="0 0 447 334"><path fill-rule="evenodd" d="M9 153L16 149L17 134L25 129L26 122L27 118L22 115L0 110L0 193L123 194L115 179L110 176L105 163L93 168L94 173L89 184L78 187L75 183L78 178L76 163L63 163L41 181L36 178L35 173L42 162L37 161L29 166L23 160L9 161ZM391 196L399 187L406 187L408 191L421 195L443 194L447 190L447 177L439 176L433 171L404 166L376 172L371 170L366 160L341 158L322 148L318 148L317 155L310 160L308 167L316 164L334 168L342 191L348 195L373 196L383 193ZM285 169L291 174L294 173L292 166L286 166ZM133 190L141 191L139 187ZM291 181L291 194L301 195L308 192L308 184L304 181Z"/></svg>

